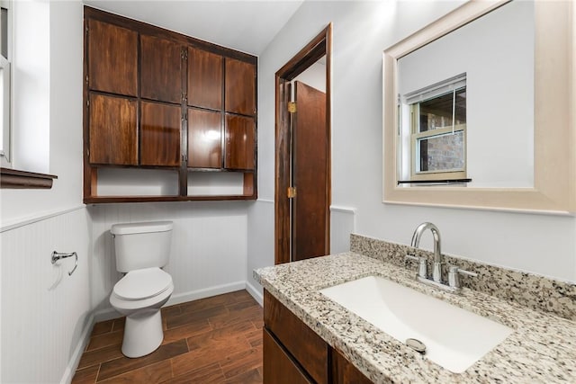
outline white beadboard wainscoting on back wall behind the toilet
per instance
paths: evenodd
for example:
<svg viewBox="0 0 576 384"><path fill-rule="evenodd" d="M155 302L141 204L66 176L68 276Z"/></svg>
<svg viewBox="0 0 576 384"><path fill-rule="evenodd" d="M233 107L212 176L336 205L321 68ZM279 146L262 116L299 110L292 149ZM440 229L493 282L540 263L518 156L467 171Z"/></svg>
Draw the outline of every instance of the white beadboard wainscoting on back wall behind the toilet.
<svg viewBox="0 0 576 384"><path fill-rule="evenodd" d="M166 305L243 290L247 270L247 202L192 201L105 204L88 208L93 219L92 300L95 318L120 316L108 298L121 273L116 271L112 224L174 222L170 262L175 290Z"/></svg>

